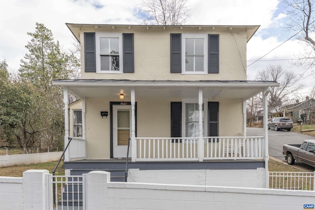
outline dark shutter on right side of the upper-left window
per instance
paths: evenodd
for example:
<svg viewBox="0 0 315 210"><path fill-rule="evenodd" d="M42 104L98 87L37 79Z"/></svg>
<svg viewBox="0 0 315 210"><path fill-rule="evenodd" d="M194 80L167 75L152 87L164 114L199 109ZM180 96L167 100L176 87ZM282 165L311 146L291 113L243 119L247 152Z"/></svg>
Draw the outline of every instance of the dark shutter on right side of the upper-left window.
<svg viewBox="0 0 315 210"><path fill-rule="evenodd" d="M134 72L133 33L123 33L124 73Z"/></svg>

